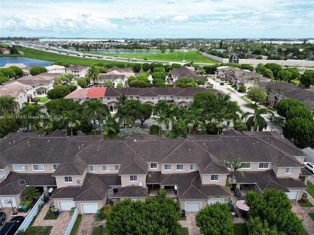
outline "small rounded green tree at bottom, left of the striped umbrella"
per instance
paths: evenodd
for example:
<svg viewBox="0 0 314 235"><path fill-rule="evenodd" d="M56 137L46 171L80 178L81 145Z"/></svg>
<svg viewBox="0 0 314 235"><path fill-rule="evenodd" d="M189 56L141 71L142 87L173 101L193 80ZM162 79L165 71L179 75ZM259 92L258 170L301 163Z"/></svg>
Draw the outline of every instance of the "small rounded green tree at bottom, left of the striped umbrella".
<svg viewBox="0 0 314 235"><path fill-rule="evenodd" d="M227 204L216 202L196 214L196 225L203 235L233 235L234 228Z"/></svg>

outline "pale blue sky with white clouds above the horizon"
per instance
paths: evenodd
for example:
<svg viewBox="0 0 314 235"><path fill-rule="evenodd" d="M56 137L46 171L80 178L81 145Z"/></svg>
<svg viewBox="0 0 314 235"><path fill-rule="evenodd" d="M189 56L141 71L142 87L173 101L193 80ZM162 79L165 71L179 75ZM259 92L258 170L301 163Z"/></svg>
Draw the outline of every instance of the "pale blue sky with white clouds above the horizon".
<svg viewBox="0 0 314 235"><path fill-rule="evenodd" d="M0 36L314 38L314 0L0 0Z"/></svg>

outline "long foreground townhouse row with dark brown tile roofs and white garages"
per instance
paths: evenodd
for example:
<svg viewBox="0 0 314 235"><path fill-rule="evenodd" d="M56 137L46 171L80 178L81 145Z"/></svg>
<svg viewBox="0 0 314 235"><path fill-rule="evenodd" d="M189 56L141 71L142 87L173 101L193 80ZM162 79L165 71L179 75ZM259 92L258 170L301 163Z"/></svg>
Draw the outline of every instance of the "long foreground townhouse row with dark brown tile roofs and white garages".
<svg viewBox="0 0 314 235"><path fill-rule="evenodd" d="M225 188L232 171L224 164L231 156L247 165L241 169L244 177L236 175L244 197L248 188L259 193L276 188L298 200L310 175L302 165L307 155L276 132L128 140L57 132L11 133L0 140L1 208L17 207L30 185L51 188L60 211L77 207L79 213L96 213L109 199L144 200L157 196L160 188L185 211L199 211L232 196Z"/></svg>

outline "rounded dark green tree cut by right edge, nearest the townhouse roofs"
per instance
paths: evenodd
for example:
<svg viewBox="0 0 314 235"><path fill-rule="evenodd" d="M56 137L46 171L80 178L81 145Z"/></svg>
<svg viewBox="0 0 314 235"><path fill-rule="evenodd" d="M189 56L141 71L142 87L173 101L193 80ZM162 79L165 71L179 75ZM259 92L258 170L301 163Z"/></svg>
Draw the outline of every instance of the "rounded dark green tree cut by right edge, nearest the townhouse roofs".
<svg viewBox="0 0 314 235"><path fill-rule="evenodd" d="M295 117L283 126L284 137L298 148L314 148L314 122L307 118Z"/></svg>

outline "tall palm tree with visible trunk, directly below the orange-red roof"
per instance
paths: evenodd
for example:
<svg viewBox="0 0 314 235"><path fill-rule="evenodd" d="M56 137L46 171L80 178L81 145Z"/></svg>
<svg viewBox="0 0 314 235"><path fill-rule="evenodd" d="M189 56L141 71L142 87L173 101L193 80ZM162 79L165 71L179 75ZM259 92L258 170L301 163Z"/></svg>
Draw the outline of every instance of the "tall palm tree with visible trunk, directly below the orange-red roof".
<svg viewBox="0 0 314 235"><path fill-rule="evenodd" d="M109 114L109 108L106 104L103 104L101 99L90 99L83 102L84 112L87 121L94 121L94 133L96 136L96 119L99 122L104 122L103 117Z"/></svg>

